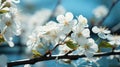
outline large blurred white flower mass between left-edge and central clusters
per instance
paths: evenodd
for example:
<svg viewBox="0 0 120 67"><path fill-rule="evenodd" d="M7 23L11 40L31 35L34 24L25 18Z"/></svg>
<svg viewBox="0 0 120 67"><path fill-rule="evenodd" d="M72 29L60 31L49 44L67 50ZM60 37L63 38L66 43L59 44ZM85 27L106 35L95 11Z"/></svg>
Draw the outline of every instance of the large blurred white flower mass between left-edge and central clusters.
<svg viewBox="0 0 120 67"><path fill-rule="evenodd" d="M49 9L38 10L33 15L28 15L24 13L20 14L20 18L21 18L20 20L22 22L21 40L23 44L25 44L25 42L28 39L28 35L31 35L31 32L33 32L34 29L37 29L38 26L42 26L45 23L47 23L46 21L48 20L50 15L51 15L51 11Z"/></svg>

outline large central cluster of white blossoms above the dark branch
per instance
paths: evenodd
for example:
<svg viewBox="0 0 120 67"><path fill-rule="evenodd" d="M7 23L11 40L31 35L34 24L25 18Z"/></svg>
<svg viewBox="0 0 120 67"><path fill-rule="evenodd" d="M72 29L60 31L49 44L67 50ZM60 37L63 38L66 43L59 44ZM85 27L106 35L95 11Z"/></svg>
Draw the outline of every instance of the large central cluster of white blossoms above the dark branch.
<svg viewBox="0 0 120 67"><path fill-rule="evenodd" d="M65 15L58 15L56 19L58 22L50 21L34 30L27 41L31 49L45 49L51 44L55 46L60 43L59 54L76 50L77 54L85 54L89 58L98 51L98 45L90 38L89 26L84 16L79 15L77 19L74 19L73 14L67 12ZM71 31L73 32L71 36L65 39ZM40 50L39 52L45 54L46 51Z"/></svg>

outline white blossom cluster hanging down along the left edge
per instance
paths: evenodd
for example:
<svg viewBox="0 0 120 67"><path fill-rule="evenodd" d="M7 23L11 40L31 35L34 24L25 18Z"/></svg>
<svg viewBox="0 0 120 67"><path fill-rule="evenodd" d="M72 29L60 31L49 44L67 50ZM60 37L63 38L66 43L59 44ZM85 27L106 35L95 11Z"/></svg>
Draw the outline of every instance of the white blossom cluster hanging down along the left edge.
<svg viewBox="0 0 120 67"><path fill-rule="evenodd" d="M20 35L20 21L17 17L18 10L14 3L19 3L19 0L0 0L0 31L1 36L9 44L14 46L12 42L13 35Z"/></svg>

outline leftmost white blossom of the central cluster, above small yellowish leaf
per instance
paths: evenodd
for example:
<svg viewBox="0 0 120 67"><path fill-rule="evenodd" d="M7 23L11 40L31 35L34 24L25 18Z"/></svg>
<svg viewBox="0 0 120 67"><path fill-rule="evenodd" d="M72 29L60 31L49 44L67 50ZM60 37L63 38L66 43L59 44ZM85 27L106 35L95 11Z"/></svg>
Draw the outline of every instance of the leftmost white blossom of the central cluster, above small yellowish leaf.
<svg viewBox="0 0 120 67"><path fill-rule="evenodd" d="M37 50L42 55L45 54L49 46L49 42L43 38L43 33L39 33L37 29L35 29L29 36L26 44L28 46L28 52L31 52L31 50Z"/></svg>

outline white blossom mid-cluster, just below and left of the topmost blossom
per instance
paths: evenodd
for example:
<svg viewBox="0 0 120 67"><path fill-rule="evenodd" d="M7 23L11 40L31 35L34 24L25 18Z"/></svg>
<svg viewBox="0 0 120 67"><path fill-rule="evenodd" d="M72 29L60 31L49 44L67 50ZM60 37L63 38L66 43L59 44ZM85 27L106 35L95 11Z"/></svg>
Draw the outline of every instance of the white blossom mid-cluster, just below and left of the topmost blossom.
<svg viewBox="0 0 120 67"><path fill-rule="evenodd" d="M62 35L62 27L56 22L48 22L45 25L45 33L43 34L46 40L50 41L52 44L56 44L59 41L60 36Z"/></svg>

